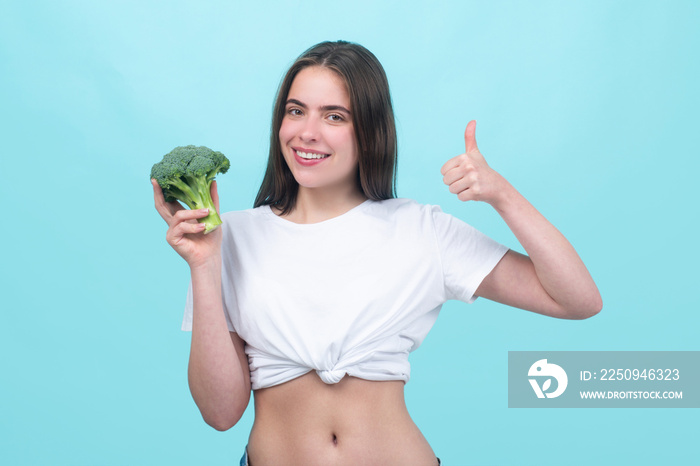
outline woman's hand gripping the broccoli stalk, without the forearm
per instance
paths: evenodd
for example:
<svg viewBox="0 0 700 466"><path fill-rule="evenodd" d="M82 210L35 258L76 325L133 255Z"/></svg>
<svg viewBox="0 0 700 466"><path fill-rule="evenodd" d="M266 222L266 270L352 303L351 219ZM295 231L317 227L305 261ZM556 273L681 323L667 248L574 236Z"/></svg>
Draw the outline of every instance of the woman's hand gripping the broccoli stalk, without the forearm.
<svg viewBox="0 0 700 466"><path fill-rule="evenodd" d="M209 215L208 209L189 210L179 202L165 202L163 190L154 179L153 197L156 210L168 224L165 239L168 244L189 264L190 268L206 264L221 256L221 227L204 234L204 224L197 219ZM216 210L219 210L219 195L216 191L216 181L211 185L211 198Z"/></svg>

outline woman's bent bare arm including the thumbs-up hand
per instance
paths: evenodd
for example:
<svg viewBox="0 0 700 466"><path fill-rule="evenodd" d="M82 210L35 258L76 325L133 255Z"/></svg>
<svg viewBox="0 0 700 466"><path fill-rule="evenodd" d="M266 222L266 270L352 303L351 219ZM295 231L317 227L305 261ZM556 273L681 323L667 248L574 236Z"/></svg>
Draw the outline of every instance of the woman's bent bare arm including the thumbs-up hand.
<svg viewBox="0 0 700 466"><path fill-rule="evenodd" d="M442 167L443 181L462 201L490 204L527 252L508 251L476 295L561 319L585 319L603 302L574 248L505 178L476 145L476 121L464 133L466 151Z"/></svg>

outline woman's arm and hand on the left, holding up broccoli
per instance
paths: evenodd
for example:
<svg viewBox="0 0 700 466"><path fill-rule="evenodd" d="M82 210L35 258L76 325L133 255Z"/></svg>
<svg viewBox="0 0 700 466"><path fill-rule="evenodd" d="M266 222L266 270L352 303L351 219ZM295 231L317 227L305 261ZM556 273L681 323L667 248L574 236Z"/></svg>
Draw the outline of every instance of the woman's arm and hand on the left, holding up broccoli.
<svg viewBox="0 0 700 466"><path fill-rule="evenodd" d="M202 417L217 430L233 427L250 401L250 372L244 342L229 332L221 299L221 228L204 235L204 210L165 202L152 180L156 210L168 224L166 239L192 274L192 345L188 380ZM216 182L212 199L218 209Z"/></svg>

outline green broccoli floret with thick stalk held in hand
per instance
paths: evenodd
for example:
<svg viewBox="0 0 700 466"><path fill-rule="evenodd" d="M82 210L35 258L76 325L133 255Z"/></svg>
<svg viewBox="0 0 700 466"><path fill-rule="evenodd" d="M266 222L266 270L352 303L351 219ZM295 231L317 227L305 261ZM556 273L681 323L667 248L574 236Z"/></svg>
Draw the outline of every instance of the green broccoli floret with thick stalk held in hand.
<svg viewBox="0 0 700 466"><path fill-rule="evenodd" d="M209 209L209 215L200 219L207 234L221 225L211 199L211 183L217 173L226 173L230 165L221 152L204 146L181 146L153 165L151 178L158 181L166 202L178 200L190 209Z"/></svg>

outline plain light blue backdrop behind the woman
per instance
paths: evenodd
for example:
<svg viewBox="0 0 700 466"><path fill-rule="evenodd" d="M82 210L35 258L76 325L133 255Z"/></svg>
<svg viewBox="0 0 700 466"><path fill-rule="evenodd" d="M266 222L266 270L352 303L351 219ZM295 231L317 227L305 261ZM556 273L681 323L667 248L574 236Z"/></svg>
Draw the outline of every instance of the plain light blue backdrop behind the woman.
<svg viewBox="0 0 700 466"><path fill-rule="evenodd" d="M0 463L235 464L186 381L188 270L165 243L151 165L228 155L222 209L247 208L293 59L326 39L384 64L399 195L515 249L442 164L466 123L572 241L603 312L562 321L449 303L412 355L410 412L448 465L691 464L696 410L507 408L509 350L698 350L696 1L0 3L4 215Z"/></svg>

